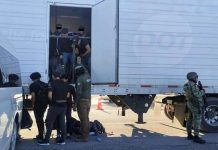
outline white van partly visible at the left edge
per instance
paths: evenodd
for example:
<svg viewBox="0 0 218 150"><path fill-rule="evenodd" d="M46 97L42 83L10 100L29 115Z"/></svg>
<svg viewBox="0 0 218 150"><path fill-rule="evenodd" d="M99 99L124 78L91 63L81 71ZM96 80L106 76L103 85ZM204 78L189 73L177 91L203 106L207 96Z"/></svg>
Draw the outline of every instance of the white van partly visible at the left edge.
<svg viewBox="0 0 218 150"><path fill-rule="evenodd" d="M18 60L0 41L0 149L15 150L22 117L23 98L21 81L18 87L3 87L9 74L20 76Z"/></svg>

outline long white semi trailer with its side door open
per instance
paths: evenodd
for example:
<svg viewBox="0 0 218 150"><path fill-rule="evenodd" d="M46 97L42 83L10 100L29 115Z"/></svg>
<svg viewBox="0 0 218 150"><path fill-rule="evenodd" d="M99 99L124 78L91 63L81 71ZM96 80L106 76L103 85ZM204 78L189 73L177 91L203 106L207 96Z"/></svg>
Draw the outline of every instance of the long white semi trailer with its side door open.
<svg viewBox="0 0 218 150"><path fill-rule="evenodd" d="M48 81L55 23L72 30L86 24L92 93L131 108L139 122L157 94L173 93L163 99L165 111L183 124L183 85L195 71L208 97L202 129L213 132L218 131L217 9L215 0L1 0L0 34L14 46L22 81L29 84L35 71Z"/></svg>

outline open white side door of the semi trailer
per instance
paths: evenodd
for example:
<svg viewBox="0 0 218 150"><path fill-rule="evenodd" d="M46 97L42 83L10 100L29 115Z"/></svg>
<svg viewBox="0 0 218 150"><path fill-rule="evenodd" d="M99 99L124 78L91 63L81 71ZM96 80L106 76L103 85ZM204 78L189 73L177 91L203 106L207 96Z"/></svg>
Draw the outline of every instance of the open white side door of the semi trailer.
<svg viewBox="0 0 218 150"><path fill-rule="evenodd" d="M118 1L105 0L92 8L92 84L118 82Z"/></svg>

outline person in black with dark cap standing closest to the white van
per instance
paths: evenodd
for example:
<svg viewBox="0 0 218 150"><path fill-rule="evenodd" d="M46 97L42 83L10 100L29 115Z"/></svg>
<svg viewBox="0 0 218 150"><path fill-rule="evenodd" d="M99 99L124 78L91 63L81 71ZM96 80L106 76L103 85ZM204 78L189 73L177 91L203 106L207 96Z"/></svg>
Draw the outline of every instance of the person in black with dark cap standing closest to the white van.
<svg viewBox="0 0 218 150"><path fill-rule="evenodd" d="M33 83L30 85L31 101L33 105L33 112L38 128L38 135L36 140L42 140L44 137L44 114L48 105L48 85L40 80L41 74L34 72L30 75Z"/></svg>

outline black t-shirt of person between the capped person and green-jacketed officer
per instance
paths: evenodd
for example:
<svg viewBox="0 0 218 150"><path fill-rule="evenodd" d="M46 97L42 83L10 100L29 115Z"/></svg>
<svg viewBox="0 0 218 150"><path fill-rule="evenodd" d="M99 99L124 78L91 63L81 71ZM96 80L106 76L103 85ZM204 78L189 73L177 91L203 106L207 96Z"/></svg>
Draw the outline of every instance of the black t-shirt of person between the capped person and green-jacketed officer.
<svg viewBox="0 0 218 150"><path fill-rule="evenodd" d="M69 85L62 80L54 80L49 85L52 92L51 106L65 107L67 105L67 94L70 92Z"/></svg>

